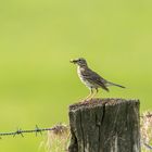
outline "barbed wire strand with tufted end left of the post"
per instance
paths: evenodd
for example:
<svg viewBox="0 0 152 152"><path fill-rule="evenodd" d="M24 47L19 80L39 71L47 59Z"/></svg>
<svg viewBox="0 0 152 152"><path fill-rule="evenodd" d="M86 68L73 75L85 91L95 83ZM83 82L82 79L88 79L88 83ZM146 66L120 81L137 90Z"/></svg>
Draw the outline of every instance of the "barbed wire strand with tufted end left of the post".
<svg viewBox="0 0 152 152"><path fill-rule="evenodd" d="M39 128L38 125L36 125L35 129L30 129L30 130L24 130L24 129L18 128L15 131L0 132L0 139L2 138L2 136L15 137L20 135L21 137L24 137L24 134L33 134L33 132L35 132L37 136L38 134L42 135L42 131L51 131L51 130L54 131L55 134L59 134L59 132L64 131L65 129L67 129L67 126L63 124L55 125L52 128Z"/></svg>

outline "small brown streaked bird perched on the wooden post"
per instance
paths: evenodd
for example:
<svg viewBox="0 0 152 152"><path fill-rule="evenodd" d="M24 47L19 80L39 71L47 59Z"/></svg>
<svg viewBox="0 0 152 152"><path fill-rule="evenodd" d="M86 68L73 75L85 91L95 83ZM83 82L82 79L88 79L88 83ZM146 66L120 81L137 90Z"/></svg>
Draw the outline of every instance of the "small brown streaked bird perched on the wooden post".
<svg viewBox="0 0 152 152"><path fill-rule="evenodd" d="M85 84L90 90L90 94L85 100L93 98L98 93L99 88L102 88L106 91L109 91L107 87L110 86L125 88L124 86L104 79L99 74L90 69L88 67L87 61L84 58L71 60L71 62L77 65L77 74L81 83ZM96 90L96 93L93 92L93 89Z"/></svg>

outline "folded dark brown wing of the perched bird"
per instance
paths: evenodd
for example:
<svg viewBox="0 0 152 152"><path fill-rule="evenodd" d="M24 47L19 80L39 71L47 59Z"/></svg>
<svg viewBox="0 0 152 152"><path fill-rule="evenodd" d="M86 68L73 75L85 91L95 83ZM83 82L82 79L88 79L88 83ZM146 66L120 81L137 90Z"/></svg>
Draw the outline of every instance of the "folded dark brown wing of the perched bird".
<svg viewBox="0 0 152 152"><path fill-rule="evenodd" d="M87 80L94 83L99 85L101 88L103 88L104 90L109 91L109 89L105 86L106 80L102 78L99 74L97 74L96 72L88 68L84 71L81 74Z"/></svg>

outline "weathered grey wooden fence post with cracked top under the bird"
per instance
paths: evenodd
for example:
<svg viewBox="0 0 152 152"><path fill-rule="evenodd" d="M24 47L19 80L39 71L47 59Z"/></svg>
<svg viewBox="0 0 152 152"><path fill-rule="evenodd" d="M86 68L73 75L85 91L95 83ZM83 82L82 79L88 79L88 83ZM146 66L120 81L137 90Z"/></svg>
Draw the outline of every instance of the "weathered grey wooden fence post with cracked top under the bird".
<svg viewBox="0 0 152 152"><path fill-rule="evenodd" d="M69 106L68 152L140 152L139 101L92 99Z"/></svg>

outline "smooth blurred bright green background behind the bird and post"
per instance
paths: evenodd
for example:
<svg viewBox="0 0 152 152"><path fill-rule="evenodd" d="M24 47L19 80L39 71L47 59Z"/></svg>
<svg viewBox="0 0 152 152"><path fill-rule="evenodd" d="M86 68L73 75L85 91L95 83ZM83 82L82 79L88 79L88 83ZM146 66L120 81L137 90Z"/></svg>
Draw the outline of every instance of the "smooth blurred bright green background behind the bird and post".
<svg viewBox="0 0 152 152"><path fill-rule="evenodd" d="M69 60L127 89L98 97L152 102L151 0L0 1L0 131L68 123L68 105L89 90ZM0 152L43 152L46 136L4 137Z"/></svg>

